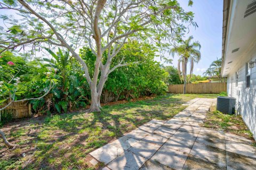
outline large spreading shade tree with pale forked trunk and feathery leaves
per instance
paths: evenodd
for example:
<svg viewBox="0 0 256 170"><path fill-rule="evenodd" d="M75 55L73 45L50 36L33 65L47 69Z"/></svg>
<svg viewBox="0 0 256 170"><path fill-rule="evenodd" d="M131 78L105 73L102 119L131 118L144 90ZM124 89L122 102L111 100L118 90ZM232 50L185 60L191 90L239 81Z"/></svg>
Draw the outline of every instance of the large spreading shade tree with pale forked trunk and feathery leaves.
<svg viewBox="0 0 256 170"><path fill-rule="evenodd" d="M189 0L188 5L192 4ZM117 67L131 64L122 59L117 64L112 62L127 40L167 47L175 44L187 25L197 26L193 12L185 12L175 0L4 0L0 10L18 13L13 17L1 15L0 54L21 50L36 55L42 47L66 48L81 64L89 83L89 112L100 111L108 75ZM82 46L90 47L96 57L93 73L78 55Z"/></svg>

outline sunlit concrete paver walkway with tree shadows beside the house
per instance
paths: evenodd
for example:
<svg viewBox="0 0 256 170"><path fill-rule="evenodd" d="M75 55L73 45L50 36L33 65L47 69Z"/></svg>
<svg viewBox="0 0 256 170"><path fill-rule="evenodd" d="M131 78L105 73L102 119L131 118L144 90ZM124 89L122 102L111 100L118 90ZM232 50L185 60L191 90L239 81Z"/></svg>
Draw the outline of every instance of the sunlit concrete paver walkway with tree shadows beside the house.
<svg viewBox="0 0 256 170"><path fill-rule="evenodd" d="M200 126L215 103L190 100L171 120L152 120L90 155L103 162L105 170L256 169L256 149L250 140Z"/></svg>

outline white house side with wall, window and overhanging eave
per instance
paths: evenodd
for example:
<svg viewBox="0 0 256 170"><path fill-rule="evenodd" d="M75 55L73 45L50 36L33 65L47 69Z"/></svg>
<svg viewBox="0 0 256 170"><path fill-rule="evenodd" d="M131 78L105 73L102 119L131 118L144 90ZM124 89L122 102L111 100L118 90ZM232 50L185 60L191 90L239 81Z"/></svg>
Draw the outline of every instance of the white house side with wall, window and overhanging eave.
<svg viewBox="0 0 256 170"><path fill-rule="evenodd" d="M256 139L256 0L224 0L221 75Z"/></svg>

